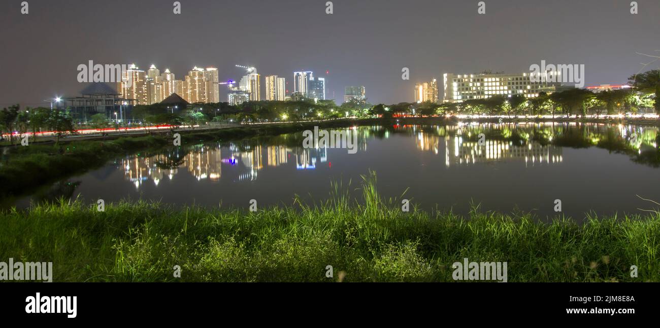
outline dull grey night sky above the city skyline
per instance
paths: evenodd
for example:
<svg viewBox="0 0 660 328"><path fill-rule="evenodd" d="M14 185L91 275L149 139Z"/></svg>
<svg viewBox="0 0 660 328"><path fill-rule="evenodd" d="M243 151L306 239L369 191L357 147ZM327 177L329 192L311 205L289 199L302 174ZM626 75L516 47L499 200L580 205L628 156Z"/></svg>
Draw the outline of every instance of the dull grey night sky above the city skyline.
<svg viewBox="0 0 660 328"><path fill-rule="evenodd" d="M0 107L47 106L78 96L77 66L152 63L182 80L193 66L217 67L220 80L244 70L326 78L327 96L364 85L370 103L414 100L415 82L482 70L525 72L545 59L585 64L585 85L620 84L660 49L660 1L485 0L18 0L0 3ZM401 68L410 68L410 80ZM653 68L657 68L655 65ZM325 76L325 71L329 75ZM220 100L226 89L220 87Z"/></svg>

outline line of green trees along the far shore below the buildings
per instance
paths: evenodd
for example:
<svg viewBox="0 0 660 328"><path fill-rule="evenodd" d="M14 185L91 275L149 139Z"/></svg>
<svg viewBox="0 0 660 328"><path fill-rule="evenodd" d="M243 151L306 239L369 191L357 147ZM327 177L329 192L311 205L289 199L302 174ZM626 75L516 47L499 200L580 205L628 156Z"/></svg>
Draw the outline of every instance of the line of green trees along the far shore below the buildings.
<svg viewBox="0 0 660 328"><path fill-rule="evenodd" d="M399 115L434 116L456 114L490 115L616 115L636 113L640 109L653 108L660 115L660 70L649 70L630 76L631 88L591 92L570 89L562 92L528 98L491 96L486 99L467 99L460 103L397 103L373 105L353 99L337 105L333 100L299 101L246 101L239 105L229 103L193 103L176 111L164 104L136 105L126 120L108 118L105 113L92 115L90 120L76 121L68 110L51 110L45 107L20 110L13 105L0 111L2 134L26 134L36 136L40 131L51 131L57 141L64 134L75 133L76 128L121 128L122 126L153 126L169 124L173 128L183 124L195 126L206 123L267 123L285 121L311 121L339 119L343 117L397 117ZM183 106L182 106L183 107ZM13 144L14 138L9 138Z"/></svg>

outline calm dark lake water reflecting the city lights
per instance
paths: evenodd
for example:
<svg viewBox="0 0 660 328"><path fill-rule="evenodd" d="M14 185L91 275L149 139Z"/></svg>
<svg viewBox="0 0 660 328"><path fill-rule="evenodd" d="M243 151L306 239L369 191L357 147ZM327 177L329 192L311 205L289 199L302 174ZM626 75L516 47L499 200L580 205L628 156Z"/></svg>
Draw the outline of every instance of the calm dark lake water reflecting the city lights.
<svg viewBox="0 0 660 328"><path fill-rule="evenodd" d="M658 130L617 124L457 124L354 128L357 153L302 147L302 132L236 142L214 142L139 153L69 178L13 202L59 196L158 200L177 205L247 208L329 198L343 182L360 198L360 176L375 171L385 198L405 192L427 210L484 211L554 216L643 213L653 208L636 195L660 200ZM483 134L479 142L480 134ZM400 200L399 200L400 204Z"/></svg>

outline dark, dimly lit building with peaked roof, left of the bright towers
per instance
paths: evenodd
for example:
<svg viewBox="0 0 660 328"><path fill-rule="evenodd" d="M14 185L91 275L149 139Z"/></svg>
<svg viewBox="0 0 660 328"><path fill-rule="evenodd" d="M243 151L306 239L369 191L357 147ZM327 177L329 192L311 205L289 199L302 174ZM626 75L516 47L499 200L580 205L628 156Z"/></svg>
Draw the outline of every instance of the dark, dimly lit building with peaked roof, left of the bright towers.
<svg viewBox="0 0 660 328"><path fill-rule="evenodd" d="M81 97L62 97L57 109L67 110L75 121L88 121L104 113L108 119L122 121L133 109L133 99L124 99L112 86L93 82L81 90Z"/></svg>

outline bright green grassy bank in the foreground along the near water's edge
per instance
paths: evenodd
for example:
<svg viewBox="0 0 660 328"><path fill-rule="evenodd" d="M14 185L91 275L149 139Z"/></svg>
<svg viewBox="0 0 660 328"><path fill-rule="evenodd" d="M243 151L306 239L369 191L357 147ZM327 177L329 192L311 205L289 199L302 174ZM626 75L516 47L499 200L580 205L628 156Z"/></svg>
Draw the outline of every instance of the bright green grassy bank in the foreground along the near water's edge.
<svg viewBox="0 0 660 328"><path fill-rule="evenodd" d="M7 211L0 261L52 261L53 281L453 281L463 258L507 261L510 282L660 281L657 214L583 225L477 210L463 219L405 213L380 199L375 177L362 190L361 204L336 192L315 207L255 213L143 202Z"/></svg>

